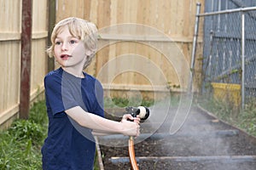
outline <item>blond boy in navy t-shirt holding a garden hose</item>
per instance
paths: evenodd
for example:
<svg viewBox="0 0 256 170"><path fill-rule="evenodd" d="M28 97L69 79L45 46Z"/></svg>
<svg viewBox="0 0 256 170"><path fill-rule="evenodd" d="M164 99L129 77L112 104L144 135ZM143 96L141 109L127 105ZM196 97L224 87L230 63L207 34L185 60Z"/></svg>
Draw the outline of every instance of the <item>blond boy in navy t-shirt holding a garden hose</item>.
<svg viewBox="0 0 256 170"><path fill-rule="evenodd" d="M121 122L103 118L102 85L83 71L96 54L97 37L94 24L74 17L61 20L52 32L47 52L61 67L44 77L49 116L44 170L93 169L93 135L139 135L138 117L126 114Z"/></svg>

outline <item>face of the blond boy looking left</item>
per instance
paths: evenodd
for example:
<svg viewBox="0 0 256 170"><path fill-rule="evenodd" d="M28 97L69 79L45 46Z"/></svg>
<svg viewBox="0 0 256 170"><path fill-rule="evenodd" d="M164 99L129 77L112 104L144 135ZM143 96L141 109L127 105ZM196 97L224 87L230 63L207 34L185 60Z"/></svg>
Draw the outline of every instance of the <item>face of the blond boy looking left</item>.
<svg viewBox="0 0 256 170"><path fill-rule="evenodd" d="M80 70L83 69L86 61L84 42L78 37L73 37L67 26L63 27L55 38L54 54L55 59L62 67L73 67Z"/></svg>

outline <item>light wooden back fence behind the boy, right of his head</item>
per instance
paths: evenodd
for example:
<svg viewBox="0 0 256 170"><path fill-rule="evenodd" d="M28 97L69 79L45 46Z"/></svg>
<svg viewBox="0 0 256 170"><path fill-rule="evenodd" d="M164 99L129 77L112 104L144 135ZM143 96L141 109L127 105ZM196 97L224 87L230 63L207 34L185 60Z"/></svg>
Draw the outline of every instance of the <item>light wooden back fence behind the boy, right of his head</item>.
<svg viewBox="0 0 256 170"><path fill-rule="evenodd" d="M133 89L184 91L188 86L198 2L204 1L58 0L56 21L76 16L96 23L100 48L87 71L100 79L105 90L121 94ZM203 10L203 4L201 7ZM152 65L155 67L148 68ZM139 66L145 69L141 71ZM199 69L200 63L196 62L196 66Z"/></svg>

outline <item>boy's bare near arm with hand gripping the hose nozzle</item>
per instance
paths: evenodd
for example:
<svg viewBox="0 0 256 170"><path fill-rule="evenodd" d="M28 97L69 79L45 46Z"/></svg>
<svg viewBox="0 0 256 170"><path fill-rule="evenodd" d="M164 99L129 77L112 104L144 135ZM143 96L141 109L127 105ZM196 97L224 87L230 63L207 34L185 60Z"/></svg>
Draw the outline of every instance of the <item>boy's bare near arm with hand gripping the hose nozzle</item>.
<svg viewBox="0 0 256 170"><path fill-rule="evenodd" d="M66 113L75 122L78 122L80 126L92 129L95 134L121 133L127 136L139 135L140 119L138 117L125 115L121 122L115 122L84 111L80 106L68 109ZM127 119L133 120L134 122L128 121Z"/></svg>

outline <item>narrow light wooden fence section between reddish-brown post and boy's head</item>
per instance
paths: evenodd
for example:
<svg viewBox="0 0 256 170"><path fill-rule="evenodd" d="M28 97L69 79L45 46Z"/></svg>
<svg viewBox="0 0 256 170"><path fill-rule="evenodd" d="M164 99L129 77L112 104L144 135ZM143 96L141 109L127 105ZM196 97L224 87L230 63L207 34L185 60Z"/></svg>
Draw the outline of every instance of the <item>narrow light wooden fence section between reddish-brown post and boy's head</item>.
<svg viewBox="0 0 256 170"><path fill-rule="evenodd" d="M44 76L47 72L45 53L48 38L47 8L46 0L33 2L31 100L44 89Z"/></svg>

